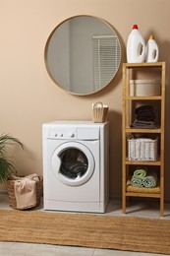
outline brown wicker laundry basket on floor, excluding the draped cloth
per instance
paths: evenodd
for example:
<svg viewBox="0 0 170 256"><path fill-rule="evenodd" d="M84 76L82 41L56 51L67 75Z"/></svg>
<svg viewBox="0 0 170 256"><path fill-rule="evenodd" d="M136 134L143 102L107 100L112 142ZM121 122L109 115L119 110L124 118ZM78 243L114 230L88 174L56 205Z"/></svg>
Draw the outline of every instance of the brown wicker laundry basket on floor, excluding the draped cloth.
<svg viewBox="0 0 170 256"><path fill-rule="evenodd" d="M15 180L10 180L9 179L7 181L9 204L10 204L11 208L18 209L17 208L16 196L15 196L14 183L15 183ZM42 179L41 176L39 176L39 181L36 181L36 205L34 207L36 207L40 204L40 198L42 196L42 184L43 184L43 179Z"/></svg>

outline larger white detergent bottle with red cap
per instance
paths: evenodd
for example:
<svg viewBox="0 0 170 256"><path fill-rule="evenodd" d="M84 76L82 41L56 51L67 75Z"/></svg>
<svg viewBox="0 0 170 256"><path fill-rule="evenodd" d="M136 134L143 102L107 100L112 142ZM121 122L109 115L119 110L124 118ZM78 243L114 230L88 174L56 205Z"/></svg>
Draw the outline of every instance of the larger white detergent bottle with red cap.
<svg viewBox="0 0 170 256"><path fill-rule="evenodd" d="M145 41L139 32L138 25L134 25L127 41L127 61L129 63L142 63L145 59Z"/></svg>

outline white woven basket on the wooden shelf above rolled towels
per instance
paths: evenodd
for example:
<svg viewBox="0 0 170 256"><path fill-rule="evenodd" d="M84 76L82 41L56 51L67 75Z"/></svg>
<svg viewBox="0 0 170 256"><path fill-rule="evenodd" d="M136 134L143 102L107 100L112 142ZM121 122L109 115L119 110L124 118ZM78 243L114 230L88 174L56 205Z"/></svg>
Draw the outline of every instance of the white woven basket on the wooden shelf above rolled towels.
<svg viewBox="0 0 170 256"><path fill-rule="evenodd" d="M158 138L134 138L128 140L129 160L157 160Z"/></svg>

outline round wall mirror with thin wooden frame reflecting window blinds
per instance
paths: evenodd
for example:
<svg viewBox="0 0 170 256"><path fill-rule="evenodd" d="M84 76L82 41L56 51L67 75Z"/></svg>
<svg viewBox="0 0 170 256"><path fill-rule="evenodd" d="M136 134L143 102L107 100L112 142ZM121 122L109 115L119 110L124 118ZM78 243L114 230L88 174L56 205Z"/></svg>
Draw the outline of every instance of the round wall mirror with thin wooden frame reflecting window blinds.
<svg viewBox="0 0 170 256"><path fill-rule="evenodd" d="M121 44L114 29L91 16L59 24L45 45L45 66L54 83L74 95L94 94L118 72Z"/></svg>

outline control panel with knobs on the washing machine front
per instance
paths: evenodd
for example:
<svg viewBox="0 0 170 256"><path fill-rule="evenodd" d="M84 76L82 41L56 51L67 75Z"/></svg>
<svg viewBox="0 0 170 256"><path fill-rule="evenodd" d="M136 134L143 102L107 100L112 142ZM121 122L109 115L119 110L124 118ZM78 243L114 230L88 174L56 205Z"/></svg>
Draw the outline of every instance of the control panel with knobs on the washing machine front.
<svg viewBox="0 0 170 256"><path fill-rule="evenodd" d="M51 128L48 134L49 139L65 140L77 139L76 128Z"/></svg>

